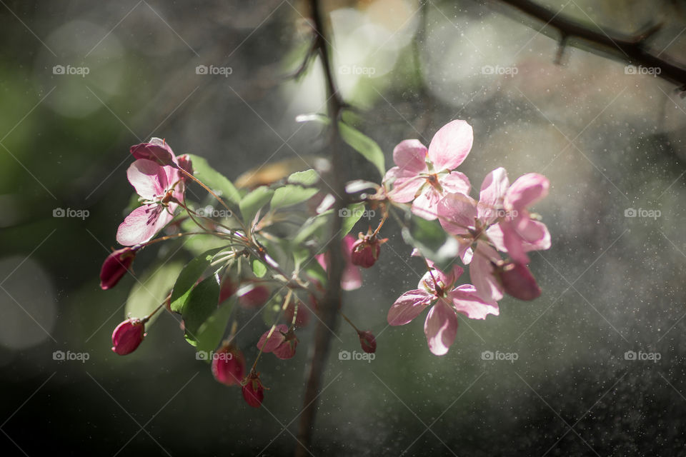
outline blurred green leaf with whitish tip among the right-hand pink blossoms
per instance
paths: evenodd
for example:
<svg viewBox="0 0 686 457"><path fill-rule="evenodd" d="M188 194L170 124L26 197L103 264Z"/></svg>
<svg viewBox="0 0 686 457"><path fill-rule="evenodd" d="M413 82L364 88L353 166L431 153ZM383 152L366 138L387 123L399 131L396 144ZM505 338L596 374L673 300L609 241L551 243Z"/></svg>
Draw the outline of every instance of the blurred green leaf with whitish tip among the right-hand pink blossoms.
<svg viewBox="0 0 686 457"><path fill-rule="evenodd" d="M402 228L402 238L441 269L454 263L459 251L457 240L449 236L437 221L427 221L414 214L409 226Z"/></svg>

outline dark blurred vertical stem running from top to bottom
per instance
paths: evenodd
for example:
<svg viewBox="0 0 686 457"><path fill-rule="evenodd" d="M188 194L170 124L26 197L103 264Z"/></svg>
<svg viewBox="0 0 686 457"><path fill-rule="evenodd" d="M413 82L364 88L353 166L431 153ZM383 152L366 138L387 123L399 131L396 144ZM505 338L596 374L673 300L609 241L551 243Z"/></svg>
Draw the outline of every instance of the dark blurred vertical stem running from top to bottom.
<svg viewBox="0 0 686 457"><path fill-rule="evenodd" d="M329 148L331 151L331 172L329 176L332 182L334 195L337 195L334 204L334 215L339 214L339 210L347 205L345 201L345 181L348 176L348 162L344 160L344 145L338 129L338 121L344 109L344 103L334 82L331 69L331 59L329 57L329 43L324 32L322 12L319 11L319 1L310 0L309 2L314 21L314 46L313 49L319 54L324 67L324 76L327 84L327 106L328 114L331 118L331 129L329 131ZM329 246L327 247L327 273L329 273L329 283L324 294L324 300L319 306L319 322L314 333L314 345L310 351L309 371L307 373L307 384L303 398L303 410L300 416L298 429L298 443L295 456L304 457L309 452L312 443L312 428L314 426L314 416L317 413L317 397L322 388L322 376L329 355L331 346L332 330L336 328L338 311L341 306L341 277L343 274L343 253L339 233L342 230L342 218L335 217L331 228Z"/></svg>

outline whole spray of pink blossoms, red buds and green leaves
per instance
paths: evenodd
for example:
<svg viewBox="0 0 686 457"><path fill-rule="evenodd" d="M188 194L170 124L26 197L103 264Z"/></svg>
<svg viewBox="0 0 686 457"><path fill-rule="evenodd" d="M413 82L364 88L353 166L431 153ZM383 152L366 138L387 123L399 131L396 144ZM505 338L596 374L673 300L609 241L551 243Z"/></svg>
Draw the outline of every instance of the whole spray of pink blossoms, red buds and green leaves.
<svg viewBox="0 0 686 457"><path fill-rule="evenodd" d="M392 304L387 315L390 325L400 326L429 308L424 333L430 351L437 355L447 353L454 342L458 314L484 319L499 314L497 302L504 293L522 300L539 296L527 253L550 247L546 226L529 210L547 194L547 179L526 174L510 185L507 172L495 169L484 179L479 200L474 200L469 196L469 179L456 170L472 142L472 127L465 121L452 121L439 129L428 148L417 140L402 141L393 151L396 166L385 173L381 184L349 183L347 192L357 206L339 217L357 215L357 219L333 241L340 242L342 249L341 288L351 291L362 286L362 271L381 258L388 240L380 231L389 216L403 224L403 233L409 231L404 225L408 218L441 228L449 241L446 246L453 246L452 262L440 262L420 243L407 239L427 272L417 288ZM204 159L177 156L166 141L156 138L132 146L131 154L135 161L126 174L139 205L116 232L116 241L123 247L105 259L101 288L114 287L131 272L137 253L154 243L173 243L182 237L186 242L193 240L179 248L192 246L186 247L194 258L178 277L161 280L168 281L168 293L160 297L152 313L129 313L116 326L112 350L119 355L134 352L146 336L151 317L166 309L180 316L184 337L204 354L199 359L210 363L214 378L226 386L240 386L249 406L261 406L268 388L257 371L258 361L271 357L265 354L284 361L297 356L303 337L299 332L311 316L317 316L318 303L327 290L332 238L324 230L335 217L329 187L317 184L319 174L308 170L256 189L239 190ZM207 191L206 201L187 201L186 191L192 184ZM359 189L365 192L360 194ZM366 193L368 189L375 192ZM200 211L210 203L226 211ZM362 214L373 217L377 211L376 229L369 227L357 237L347 233ZM284 224L292 215L300 222ZM457 260L469 268L470 284L459 283L464 268L454 264ZM135 310L134 305L129 309ZM149 303L143 308L149 310ZM362 351L374 353L374 333L360 330L342 309L338 312L357 333ZM262 313L267 323L262 336L237 330L240 321L243 329L255 313ZM252 366L247 365L244 351L257 353Z"/></svg>

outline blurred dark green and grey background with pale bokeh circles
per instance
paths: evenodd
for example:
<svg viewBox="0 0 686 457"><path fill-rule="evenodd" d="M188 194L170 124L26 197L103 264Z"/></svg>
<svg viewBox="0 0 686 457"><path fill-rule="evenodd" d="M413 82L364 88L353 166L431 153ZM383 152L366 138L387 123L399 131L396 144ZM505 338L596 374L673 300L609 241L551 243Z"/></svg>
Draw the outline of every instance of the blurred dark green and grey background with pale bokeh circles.
<svg viewBox="0 0 686 457"><path fill-rule="evenodd" d="M675 86L572 47L555 64L554 34L498 1L322 3L337 82L387 166L402 139L429 144L440 126L465 119L474 147L460 171L474 187L497 166L511 181L550 178L535 209L552 248L532 255L540 298L504 298L500 316L462 319L437 357L423 316L387 328L389 306L415 287L422 265L399 228L384 226L388 248L344 298L347 315L377 334L376 358L339 360L359 349L339 326L312 454L685 455L686 103ZM271 390L266 408L254 409L214 381L169 313L138 351L112 353L136 281L101 291L98 275L131 199L131 144L165 138L229 179L268 160L322 154L320 129L295 121L325 109L319 64L287 78L309 47L307 4L0 4L4 455L46 446L64 455L289 455L312 325L295 358L262 364ZM686 61L681 1L540 4L592 29L662 23L655 54ZM174 251L147 249L136 274ZM190 256L174 258L179 268ZM259 319L245 330L249 361L262 331ZM55 360L55 351L87 360Z"/></svg>

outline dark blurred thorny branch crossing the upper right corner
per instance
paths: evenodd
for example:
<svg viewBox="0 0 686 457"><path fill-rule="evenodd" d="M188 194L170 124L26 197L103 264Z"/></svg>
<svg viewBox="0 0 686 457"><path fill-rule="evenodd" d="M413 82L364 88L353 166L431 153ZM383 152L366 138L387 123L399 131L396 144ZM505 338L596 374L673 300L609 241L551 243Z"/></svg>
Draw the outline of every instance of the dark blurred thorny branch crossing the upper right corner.
<svg viewBox="0 0 686 457"><path fill-rule="evenodd" d="M658 55L652 54L647 48L647 41L660 30L660 26L652 26L635 35L627 36L615 31L594 31L580 22L572 21L556 11L540 6L530 0L498 0L500 3L514 6L516 9L532 16L560 32L560 47L569 44L570 39L581 39L591 44L591 50L609 52L628 64L659 68L660 76L679 86L680 91L686 90L686 69L673 64ZM560 56L558 52L558 56Z"/></svg>

